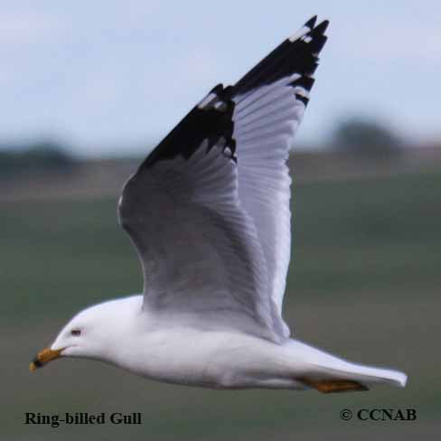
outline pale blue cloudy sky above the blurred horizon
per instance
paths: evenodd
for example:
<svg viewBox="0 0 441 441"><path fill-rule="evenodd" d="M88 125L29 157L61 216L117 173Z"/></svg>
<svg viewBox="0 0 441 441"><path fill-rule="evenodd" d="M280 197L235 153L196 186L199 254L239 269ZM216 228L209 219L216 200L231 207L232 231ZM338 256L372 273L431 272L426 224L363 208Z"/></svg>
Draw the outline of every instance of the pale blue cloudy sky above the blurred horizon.
<svg viewBox="0 0 441 441"><path fill-rule="evenodd" d="M2 0L0 142L140 153L314 14L331 24L299 145L351 116L441 138L439 1Z"/></svg>

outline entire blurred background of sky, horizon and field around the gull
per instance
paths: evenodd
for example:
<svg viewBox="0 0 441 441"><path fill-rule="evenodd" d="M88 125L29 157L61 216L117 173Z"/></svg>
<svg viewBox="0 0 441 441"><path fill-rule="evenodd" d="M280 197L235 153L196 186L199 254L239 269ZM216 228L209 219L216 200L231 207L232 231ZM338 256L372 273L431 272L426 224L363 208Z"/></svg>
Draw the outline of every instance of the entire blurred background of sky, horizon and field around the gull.
<svg viewBox="0 0 441 441"><path fill-rule="evenodd" d="M34 352L73 314L142 289L117 225L127 175L209 89L313 14L331 25L289 160L285 318L302 340L406 371L408 387L220 392L77 360L31 375ZM428 0L2 1L2 437L439 436L440 15ZM415 408L418 419L346 422L342 408ZM24 412L142 412L144 424L25 426Z"/></svg>

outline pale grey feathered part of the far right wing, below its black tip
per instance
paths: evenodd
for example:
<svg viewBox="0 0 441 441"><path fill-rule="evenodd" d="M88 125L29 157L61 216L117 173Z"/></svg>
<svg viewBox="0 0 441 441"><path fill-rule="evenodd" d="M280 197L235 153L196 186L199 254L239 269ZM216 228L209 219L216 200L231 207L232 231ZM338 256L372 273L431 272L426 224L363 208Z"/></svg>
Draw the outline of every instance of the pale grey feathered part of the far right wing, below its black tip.
<svg viewBox="0 0 441 441"><path fill-rule="evenodd" d="M297 78L294 74L234 98L239 199L256 225L279 314L291 252L291 178L286 159L305 111L290 86Z"/></svg>

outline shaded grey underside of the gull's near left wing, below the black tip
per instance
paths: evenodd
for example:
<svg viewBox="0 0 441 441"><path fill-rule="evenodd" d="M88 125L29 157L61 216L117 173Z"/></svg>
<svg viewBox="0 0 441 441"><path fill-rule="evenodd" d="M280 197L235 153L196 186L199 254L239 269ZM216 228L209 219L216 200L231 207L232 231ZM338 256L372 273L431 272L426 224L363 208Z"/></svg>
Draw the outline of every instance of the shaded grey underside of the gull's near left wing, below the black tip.
<svg viewBox="0 0 441 441"><path fill-rule="evenodd" d="M160 161L126 184L120 220L143 264L145 307L192 325L236 327L280 341L267 267L220 146Z"/></svg>

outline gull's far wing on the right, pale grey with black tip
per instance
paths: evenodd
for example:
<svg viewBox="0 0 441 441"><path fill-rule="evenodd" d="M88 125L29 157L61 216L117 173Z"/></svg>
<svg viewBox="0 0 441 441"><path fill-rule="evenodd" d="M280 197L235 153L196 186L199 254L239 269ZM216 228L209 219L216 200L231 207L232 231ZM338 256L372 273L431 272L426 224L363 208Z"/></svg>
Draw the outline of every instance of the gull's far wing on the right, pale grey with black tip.
<svg viewBox="0 0 441 441"><path fill-rule="evenodd" d="M239 199L258 230L271 296L281 314L291 252L291 178L286 166L314 84L328 22L316 17L233 88Z"/></svg>

